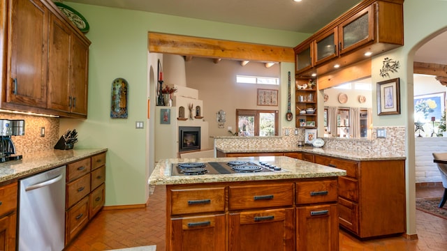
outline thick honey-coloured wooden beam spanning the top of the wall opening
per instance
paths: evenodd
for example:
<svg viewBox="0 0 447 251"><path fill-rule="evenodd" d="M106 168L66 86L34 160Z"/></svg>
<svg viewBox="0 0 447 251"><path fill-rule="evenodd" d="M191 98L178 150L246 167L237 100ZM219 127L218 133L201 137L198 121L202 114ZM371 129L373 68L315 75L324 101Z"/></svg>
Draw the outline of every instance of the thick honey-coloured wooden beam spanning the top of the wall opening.
<svg viewBox="0 0 447 251"><path fill-rule="evenodd" d="M149 52L203 56L214 59L295 62L293 47L258 45L228 40L148 33Z"/></svg>

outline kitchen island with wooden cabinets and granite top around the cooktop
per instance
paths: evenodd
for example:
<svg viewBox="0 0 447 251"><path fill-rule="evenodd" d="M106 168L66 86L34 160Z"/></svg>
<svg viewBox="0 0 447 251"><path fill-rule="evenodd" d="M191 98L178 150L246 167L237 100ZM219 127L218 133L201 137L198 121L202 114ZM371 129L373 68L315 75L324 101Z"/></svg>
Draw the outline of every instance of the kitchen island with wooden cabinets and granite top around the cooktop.
<svg viewBox="0 0 447 251"><path fill-rule="evenodd" d="M279 171L172 175L178 163L247 161ZM285 156L161 160L149 185L166 185L166 250L338 250L338 176L346 171Z"/></svg>

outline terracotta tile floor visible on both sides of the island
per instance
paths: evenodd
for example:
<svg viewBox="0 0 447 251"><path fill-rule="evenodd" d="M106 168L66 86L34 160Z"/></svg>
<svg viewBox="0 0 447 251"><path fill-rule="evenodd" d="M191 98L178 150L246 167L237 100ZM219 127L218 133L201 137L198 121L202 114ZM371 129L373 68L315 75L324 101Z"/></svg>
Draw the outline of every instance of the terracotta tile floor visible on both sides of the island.
<svg viewBox="0 0 447 251"><path fill-rule="evenodd" d="M441 197L439 183L416 186L416 197ZM103 210L87 225L66 251L96 251L156 245L165 250L165 187L157 186L149 197L149 206L140 209ZM446 205L447 206L447 205ZM418 240L401 236L359 241L339 231L340 251L441 251L447 250L447 220L416 210Z"/></svg>

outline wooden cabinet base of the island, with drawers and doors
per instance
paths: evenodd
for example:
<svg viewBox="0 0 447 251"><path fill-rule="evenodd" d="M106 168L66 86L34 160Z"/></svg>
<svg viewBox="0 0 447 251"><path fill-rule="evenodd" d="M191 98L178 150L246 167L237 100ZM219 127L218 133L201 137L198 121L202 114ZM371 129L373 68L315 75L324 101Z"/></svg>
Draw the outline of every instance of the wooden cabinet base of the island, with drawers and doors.
<svg viewBox="0 0 447 251"><path fill-rule="evenodd" d="M337 177L167 185L166 201L169 251L338 250Z"/></svg>

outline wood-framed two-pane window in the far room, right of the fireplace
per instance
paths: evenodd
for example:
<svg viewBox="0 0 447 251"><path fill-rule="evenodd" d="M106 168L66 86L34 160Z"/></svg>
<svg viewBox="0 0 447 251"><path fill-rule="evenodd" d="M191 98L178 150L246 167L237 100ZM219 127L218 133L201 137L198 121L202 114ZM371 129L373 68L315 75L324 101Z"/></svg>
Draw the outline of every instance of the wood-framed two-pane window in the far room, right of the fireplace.
<svg viewBox="0 0 447 251"><path fill-rule="evenodd" d="M236 109L237 132L240 136L277 136L278 111Z"/></svg>

